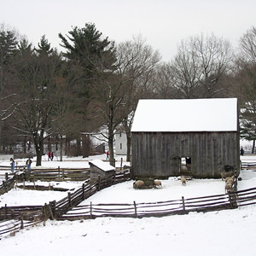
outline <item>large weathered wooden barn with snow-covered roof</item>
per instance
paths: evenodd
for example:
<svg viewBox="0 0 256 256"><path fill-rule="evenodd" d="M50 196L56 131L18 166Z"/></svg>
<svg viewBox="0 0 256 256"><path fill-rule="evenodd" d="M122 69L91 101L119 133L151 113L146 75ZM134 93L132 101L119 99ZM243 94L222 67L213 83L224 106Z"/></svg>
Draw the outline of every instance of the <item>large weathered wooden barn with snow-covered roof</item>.
<svg viewBox="0 0 256 256"><path fill-rule="evenodd" d="M210 178L239 169L236 98L140 100L131 137L134 178Z"/></svg>

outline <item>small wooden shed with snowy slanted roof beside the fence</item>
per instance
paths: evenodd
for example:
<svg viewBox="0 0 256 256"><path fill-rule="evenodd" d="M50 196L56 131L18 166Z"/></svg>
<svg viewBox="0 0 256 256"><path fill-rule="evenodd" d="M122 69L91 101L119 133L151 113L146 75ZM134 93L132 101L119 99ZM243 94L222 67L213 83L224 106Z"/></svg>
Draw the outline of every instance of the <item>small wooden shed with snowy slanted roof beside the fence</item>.
<svg viewBox="0 0 256 256"><path fill-rule="evenodd" d="M90 165L90 179L112 177L115 174L115 167L110 166L108 162L102 160L91 160Z"/></svg>

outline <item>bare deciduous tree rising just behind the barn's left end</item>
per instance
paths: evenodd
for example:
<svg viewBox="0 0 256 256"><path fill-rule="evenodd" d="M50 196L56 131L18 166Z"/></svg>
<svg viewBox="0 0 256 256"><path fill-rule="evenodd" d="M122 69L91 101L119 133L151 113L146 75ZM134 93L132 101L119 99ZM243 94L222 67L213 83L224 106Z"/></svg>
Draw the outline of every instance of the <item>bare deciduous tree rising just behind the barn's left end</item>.
<svg viewBox="0 0 256 256"><path fill-rule="evenodd" d="M140 98L152 96L154 72L160 61L160 54L146 44L139 35L117 47L117 73L119 84L123 84L122 125L127 138L126 160L131 160L131 124L137 102Z"/></svg>

